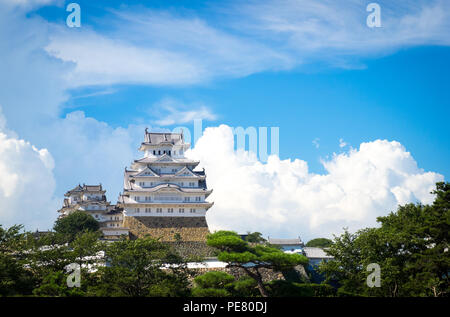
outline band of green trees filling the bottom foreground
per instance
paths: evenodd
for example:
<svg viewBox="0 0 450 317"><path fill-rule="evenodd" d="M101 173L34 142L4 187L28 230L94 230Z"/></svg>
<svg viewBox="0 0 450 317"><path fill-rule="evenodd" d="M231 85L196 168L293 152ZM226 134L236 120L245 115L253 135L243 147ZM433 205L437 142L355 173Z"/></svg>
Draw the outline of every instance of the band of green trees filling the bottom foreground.
<svg viewBox="0 0 450 317"><path fill-rule="evenodd" d="M434 193L432 205L400 206L378 218L379 228L335 237L327 249L334 260L319 270L337 290L326 284L264 283L260 269L286 271L307 259L229 231L211 234L208 244L219 249L219 260L246 276L209 272L192 287L195 273L166 244L150 238L106 243L94 227L76 231L71 221L74 226L61 228L72 229L41 237L19 225L0 225L0 296L448 296L450 184L438 183ZM108 265L95 267L99 259ZM70 263L82 266L80 288L67 286ZM381 267L379 288L367 287L370 263Z"/></svg>

